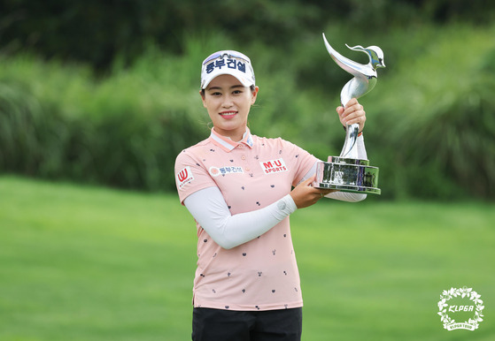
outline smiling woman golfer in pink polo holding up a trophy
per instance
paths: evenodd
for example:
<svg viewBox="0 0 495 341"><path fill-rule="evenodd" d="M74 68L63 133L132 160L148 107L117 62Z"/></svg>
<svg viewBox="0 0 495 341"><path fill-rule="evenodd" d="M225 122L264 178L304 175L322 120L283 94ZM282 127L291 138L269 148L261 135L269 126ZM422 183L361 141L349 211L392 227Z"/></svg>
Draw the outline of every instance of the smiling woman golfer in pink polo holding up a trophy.
<svg viewBox="0 0 495 341"><path fill-rule="evenodd" d="M314 188L316 157L281 138L251 134L258 92L249 57L233 50L207 57L200 95L213 128L175 161L180 200L197 225L195 341L300 340L303 299L289 216L323 196L366 198ZM359 102L336 111L343 125L358 123L362 131ZM366 159L362 136L357 143Z"/></svg>

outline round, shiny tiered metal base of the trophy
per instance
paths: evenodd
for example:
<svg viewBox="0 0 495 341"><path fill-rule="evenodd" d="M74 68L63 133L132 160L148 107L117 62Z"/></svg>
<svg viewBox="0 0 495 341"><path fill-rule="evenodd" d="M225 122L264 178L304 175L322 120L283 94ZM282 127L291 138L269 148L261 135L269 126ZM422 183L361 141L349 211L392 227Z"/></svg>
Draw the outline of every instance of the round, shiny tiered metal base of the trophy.
<svg viewBox="0 0 495 341"><path fill-rule="evenodd" d="M378 168L361 159L329 156L329 162L316 164L316 188L342 192L380 194Z"/></svg>

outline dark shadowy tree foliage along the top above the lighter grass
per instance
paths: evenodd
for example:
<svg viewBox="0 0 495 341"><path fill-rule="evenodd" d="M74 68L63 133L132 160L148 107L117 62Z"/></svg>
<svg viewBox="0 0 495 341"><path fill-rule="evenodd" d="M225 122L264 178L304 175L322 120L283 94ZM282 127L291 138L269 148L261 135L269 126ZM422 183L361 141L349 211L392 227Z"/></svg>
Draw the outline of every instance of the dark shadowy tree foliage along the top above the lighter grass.
<svg viewBox="0 0 495 341"><path fill-rule="evenodd" d="M331 23L385 34L419 22L487 23L495 9L490 0L4 0L0 6L4 53L28 49L100 70L119 55L133 62L147 42L182 54L190 34L221 33L243 45L290 49Z"/></svg>

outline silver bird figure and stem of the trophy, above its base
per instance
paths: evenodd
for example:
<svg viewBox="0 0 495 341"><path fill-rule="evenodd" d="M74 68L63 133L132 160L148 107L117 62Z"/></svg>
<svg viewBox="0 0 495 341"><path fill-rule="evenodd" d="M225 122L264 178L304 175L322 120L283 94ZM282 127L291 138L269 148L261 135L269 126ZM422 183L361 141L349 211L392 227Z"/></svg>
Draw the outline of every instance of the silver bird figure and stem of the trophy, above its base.
<svg viewBox="0 0 495 341"><path fill-rule="evenodd" d="M383 51L378 46L368 46L366 49L362 46L350 47L345 44L347 48L354 51L361 51L367 54L369 57L368 64L359 64L352 61L349 58L342 56L335 49L333 49L325 34L323 34L323 40L325 41L325 46L329 51L330 57L346 72L349 72L354 76L352 80L349 80L340 93L340 102L344 106L352 98L358 99L359 97L366 95L370 92L376 84L377 73L376 69L380 67L385 67L383 62ZM346 137L344 142L344 148L342 149L341 157L352 157L357 158L357 150L355 147L356 140L358 138L360 126L358 124L347 125L346 126Z"/></svg>

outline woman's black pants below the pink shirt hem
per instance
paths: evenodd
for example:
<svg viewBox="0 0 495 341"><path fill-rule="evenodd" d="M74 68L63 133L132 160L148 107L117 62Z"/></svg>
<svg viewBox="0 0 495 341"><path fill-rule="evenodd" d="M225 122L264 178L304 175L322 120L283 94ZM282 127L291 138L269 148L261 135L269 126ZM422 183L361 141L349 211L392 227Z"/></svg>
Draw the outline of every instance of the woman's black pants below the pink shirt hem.
<svg viewBox="0 0 495 341"><path fill-rule="evenodd" d="M302 308L233 311L195 307L193 341L300 341Z"/></svg>

